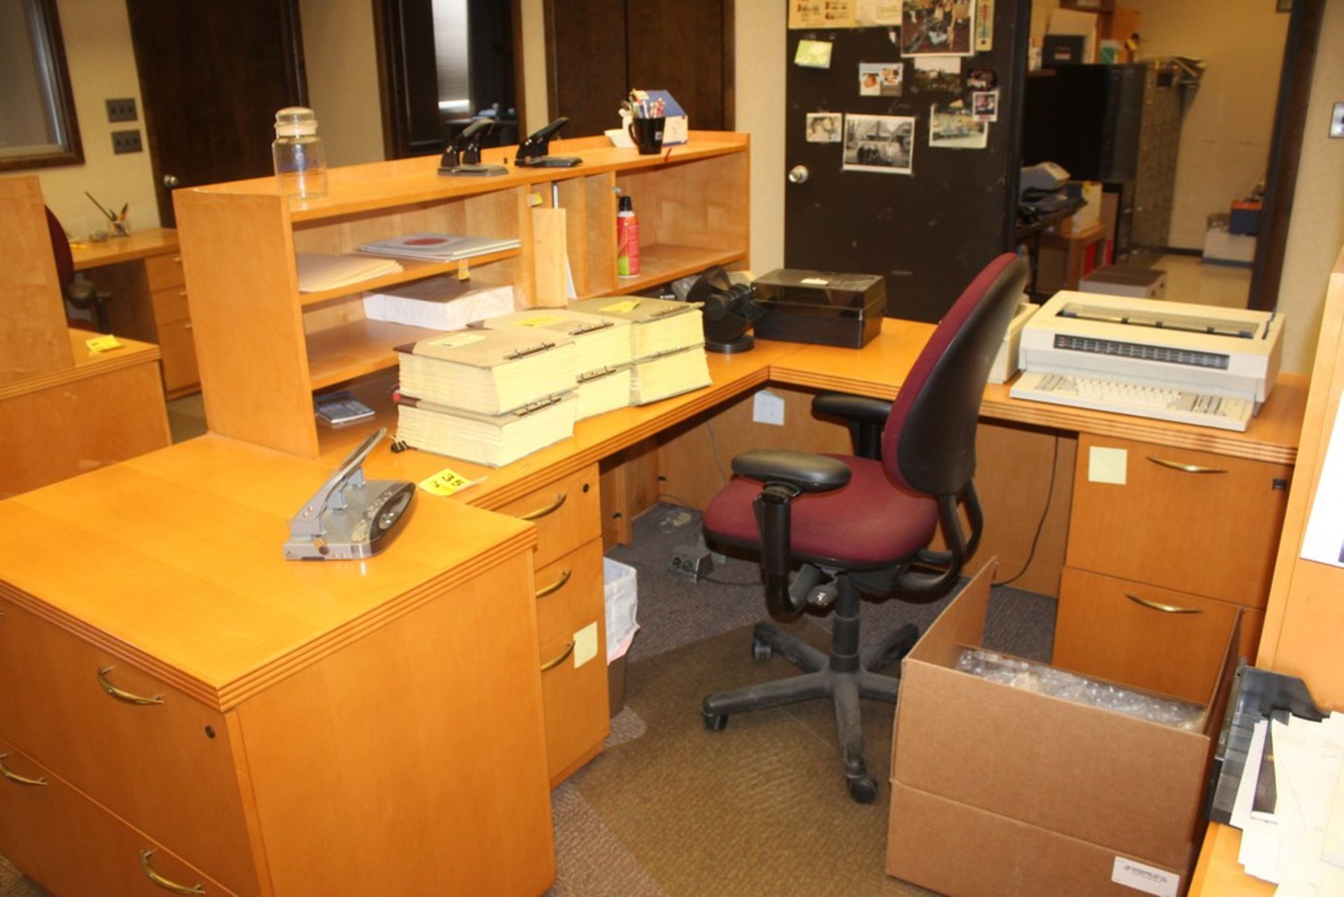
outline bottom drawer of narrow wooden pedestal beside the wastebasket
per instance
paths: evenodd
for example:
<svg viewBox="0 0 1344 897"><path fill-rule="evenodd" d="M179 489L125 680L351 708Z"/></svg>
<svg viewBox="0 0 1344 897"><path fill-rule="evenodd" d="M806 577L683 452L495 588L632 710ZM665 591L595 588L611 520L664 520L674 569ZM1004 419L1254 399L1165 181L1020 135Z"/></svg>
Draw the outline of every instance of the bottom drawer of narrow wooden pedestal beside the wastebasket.
<svg viewBox="0 0 1344 897"><path fill-rule="evenodd" d="M542 709L546 717L546 761L551 787L591 760L612 729L607 713L606 637L597 619L597 655L582 658L573 632L542 643ZM582 663L579 663L582 660Z"/></svg>

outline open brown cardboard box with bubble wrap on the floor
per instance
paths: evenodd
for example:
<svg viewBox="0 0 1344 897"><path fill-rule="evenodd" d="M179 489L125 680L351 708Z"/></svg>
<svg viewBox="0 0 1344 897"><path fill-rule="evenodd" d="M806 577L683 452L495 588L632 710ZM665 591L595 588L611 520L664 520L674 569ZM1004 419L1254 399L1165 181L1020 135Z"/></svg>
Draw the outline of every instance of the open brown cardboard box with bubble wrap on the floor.
<svg viewBox="0 0 1344 897"><path fill-rule="evenodd" d="M1239 619L1203 728L1183 732L958 671L962 647L980 646L996 569L902 662L887 871L954 896L1181 893Z"/></svg>

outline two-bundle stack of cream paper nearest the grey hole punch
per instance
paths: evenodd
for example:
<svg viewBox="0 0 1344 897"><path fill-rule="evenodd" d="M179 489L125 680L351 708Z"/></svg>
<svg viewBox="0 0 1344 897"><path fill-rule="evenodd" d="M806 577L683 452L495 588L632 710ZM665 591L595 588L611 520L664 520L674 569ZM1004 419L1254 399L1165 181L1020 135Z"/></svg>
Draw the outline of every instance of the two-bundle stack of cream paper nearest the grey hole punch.
<svg viewBox="0 0 1344 897"><path fill-rule="evenodd" d="M413 448L501 467L574 433L570 339L470 329L396 351L396 434Z"/></svg>

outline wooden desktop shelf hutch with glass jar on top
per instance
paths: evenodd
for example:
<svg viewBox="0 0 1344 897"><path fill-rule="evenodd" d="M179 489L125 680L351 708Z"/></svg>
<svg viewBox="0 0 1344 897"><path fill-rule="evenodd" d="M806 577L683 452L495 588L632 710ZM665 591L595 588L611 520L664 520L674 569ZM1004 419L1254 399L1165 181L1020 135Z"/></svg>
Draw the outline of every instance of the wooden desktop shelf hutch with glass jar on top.
<svg viewBox="0 0 1344 897"><path fill-rule="evenodd" d="M535 206L566 210L564 254L579 296L632 292L708 265L745 264L749 251L747 140L694 132L668 156L616 149L605 137L560 141L578 155L569 169L519 169L485 179L442 178L437 159L337 168L329 192L286 200L270 178L173 194L191 292L192 329L211 432L301 457L348 434L320 432L312 395L355 389L394 418L382 381L395 346L434 331L371 321L364 289L434 274L511 284L520 308L538 304ZM487 161L511 161L507 149ZM640 215L642 272L616 277L617 190ZM511 237L517 249L457 262L402 260L403 270L358 286L298 290L296 253L341 254L360 243L417 231ZM548 297L554 299L554 297ZM563 299L563 297L562 297ZM367 389L378 381L376 389Z"/></svg>

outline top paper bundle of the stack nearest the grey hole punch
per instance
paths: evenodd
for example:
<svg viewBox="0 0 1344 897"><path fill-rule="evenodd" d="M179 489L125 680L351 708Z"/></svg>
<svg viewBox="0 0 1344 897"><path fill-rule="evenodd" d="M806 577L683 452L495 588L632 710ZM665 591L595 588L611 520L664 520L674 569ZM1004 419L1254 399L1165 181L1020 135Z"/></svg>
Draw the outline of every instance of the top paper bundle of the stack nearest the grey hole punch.
<svg viewBox="0 0 1344 897"><path fill-rule="evenodd" d="M457 331L396 351L403 394L476 414L503 414L578 385L574 340L551 334Z"/></svg>

